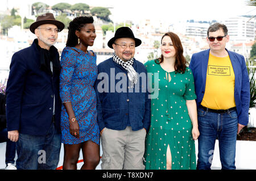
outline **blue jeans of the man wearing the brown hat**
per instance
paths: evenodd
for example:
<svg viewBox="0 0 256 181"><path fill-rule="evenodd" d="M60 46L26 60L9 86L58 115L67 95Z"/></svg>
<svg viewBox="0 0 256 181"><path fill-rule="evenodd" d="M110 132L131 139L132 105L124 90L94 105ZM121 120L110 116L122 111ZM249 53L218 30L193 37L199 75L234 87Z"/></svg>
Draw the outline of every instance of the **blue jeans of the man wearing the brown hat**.
<svg viewBox="0 0 256 181"><path fill-rule="evenodd" d="M60 157L61 134L54 124L46 136L19 134L16 145L18 170L55 170Z"/></svg>

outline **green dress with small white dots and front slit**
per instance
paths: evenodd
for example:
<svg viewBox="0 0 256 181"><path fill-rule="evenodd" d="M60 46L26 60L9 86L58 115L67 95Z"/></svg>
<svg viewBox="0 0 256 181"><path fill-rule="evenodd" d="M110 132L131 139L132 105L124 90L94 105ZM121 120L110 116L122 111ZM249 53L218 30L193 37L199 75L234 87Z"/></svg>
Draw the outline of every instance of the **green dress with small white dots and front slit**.
<svg viewBox="0 0 256 181"><path fill-rule="evenodd" d="M196 99L192 71L187 68L185 73L168 73L155 60L147 61L144 65L148 74L152 75L149 77L152 89L158 89L157 98L152 96L151 99L151 125L144 153L145 169L166 169L168 145L172 170L196 169L195 141L186 105L186 100ZM169 74L170 82L167 80Z"/></svg>

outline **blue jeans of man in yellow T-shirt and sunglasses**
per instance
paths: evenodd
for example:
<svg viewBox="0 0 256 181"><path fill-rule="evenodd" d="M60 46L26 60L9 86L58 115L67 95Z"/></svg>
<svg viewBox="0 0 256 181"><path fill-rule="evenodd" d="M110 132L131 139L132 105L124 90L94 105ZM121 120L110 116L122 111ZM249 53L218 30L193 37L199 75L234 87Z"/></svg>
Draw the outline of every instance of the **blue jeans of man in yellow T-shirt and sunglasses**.
<svg viewBox="0 0 256 181"><path fill-rule="evenodd" d="M210 170L216 138L222 169L236 169L237 111L214 113L198 108L197 115L200 132L197 170Z"/></svg>

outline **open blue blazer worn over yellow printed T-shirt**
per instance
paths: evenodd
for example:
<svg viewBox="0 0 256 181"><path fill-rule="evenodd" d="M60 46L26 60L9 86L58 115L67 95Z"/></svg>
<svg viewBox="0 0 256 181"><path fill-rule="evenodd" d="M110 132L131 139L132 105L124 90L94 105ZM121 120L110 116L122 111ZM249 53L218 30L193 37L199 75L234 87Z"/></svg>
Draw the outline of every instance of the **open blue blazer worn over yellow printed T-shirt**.
<svg viewBox="0 0 256 181"><path fill-rule="evenodd" d="M238 123L247 125L249 120L250 83L245 58L241 54L227 51L235 75L234 99L237 107ZM209 52L210 49L193 54L189 65L195 79L197 107L200 106L204 97Z"/></svg>

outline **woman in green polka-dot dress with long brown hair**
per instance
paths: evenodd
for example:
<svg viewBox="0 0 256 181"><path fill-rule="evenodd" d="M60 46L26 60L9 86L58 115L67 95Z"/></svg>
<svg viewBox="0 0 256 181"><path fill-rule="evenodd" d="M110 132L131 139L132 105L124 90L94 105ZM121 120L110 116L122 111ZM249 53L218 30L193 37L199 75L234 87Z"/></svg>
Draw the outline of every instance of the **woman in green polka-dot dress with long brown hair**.
<svg viewBox="0 0 256 181"><path fill-rule="evenodd" d="M175 33L163 35L161 52L160 58L145 64L152 75L152 93L158 91L158 96L151 99L145 169L196 169L195 140L199 129L192 71L186 66L183 47Z"/></svg>

